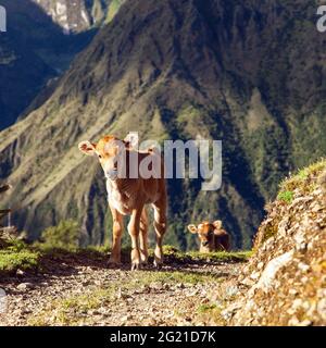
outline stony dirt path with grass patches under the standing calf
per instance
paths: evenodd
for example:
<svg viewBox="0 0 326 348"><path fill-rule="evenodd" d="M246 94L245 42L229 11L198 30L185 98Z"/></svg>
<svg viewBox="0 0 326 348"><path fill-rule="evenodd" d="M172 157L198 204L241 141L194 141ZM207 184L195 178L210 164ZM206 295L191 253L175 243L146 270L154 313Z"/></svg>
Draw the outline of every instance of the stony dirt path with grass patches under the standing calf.
<svg viewBox="0 0 326 348"><path fill-rule="evenodd" d="M209 325L218 284L238 263L168 264L130 272L106 260L49 258L38 274L0 279L8 308L1 325Z"/></svg>

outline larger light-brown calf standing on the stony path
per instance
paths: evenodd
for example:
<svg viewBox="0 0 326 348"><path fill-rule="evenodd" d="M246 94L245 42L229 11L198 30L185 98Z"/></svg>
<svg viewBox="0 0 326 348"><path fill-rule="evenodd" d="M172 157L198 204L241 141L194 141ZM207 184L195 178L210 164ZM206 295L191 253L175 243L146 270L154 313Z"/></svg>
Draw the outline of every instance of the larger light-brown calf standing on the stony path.
<svg viewBox="0 0 326 348"><path fill-rule="evenodd" d="M148 261L146 204L152 204L154 210L155 266L163 263L162 241L166 231L164 161L154 149L137 151L135 145L133 137L122 141L114 136L105 136L98 144L83 141L78 146L82 152L99 158L106 177L108 200L113 217L109 261L112 264L121 263L123 215L131 216L128 224L133 247L131 270L138 270L140 263Z"/></svg>

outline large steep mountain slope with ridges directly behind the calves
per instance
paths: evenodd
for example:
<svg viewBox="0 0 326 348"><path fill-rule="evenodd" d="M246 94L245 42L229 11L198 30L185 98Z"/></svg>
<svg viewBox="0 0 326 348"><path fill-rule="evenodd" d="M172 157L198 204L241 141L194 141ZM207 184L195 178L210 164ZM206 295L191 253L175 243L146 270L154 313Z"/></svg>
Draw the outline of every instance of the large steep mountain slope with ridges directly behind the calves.
<svg viewBox="0 0 326 348"><path fill-rule="evenodd" d="M199 135L223 140L223 187L170 181L166 240L193 247L186 224L221 217L234 246L249 247L280 178L326 149L325 39L314 3L126 2L52 97L1 133L0 177L15 186L15 222L37 237L77 219L83 243L102 243L104 181L78 141L129 130L159 140Z"/></svg>

